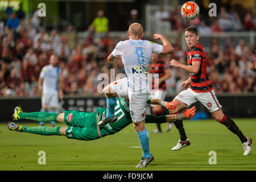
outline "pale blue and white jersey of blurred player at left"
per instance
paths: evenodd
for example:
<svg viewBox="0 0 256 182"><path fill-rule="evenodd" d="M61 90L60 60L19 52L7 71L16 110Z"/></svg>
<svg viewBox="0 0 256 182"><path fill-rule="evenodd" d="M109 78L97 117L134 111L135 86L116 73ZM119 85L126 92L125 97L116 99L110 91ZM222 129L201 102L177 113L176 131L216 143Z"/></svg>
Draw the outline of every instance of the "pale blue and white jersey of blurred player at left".
<svg viewBox="0 0 256 182"><path fill-rule="evenodd" d="M42 68L40 77L43 78L43 92L57 91L61 69L46 65Z"/></svg>

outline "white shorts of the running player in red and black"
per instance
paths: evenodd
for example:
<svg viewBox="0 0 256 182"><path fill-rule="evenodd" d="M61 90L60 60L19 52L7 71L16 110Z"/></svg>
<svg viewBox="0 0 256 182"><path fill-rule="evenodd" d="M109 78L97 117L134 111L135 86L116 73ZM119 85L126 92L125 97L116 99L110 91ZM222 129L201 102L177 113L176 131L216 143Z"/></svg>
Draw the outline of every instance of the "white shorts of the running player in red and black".
<svg viewBox="0 0 256 182"><path fill-rule="evenodd" d="M187 90L180 92L175 98L181 102L184 102L188 107L199 101L201 104L207 107L210 113L213 113L222 107L220 102L218 102L214 90L204 93L197 93L191 88L188 88Z"/></svg>

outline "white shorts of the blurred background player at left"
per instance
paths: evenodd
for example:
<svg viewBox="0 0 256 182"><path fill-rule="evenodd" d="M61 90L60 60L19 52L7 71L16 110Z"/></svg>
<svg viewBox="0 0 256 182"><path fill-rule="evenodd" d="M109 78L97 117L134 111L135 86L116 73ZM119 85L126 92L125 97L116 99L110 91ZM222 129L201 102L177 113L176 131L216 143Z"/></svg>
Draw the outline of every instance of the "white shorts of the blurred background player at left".
<svg viewBox="0 0 256 182"><path fill-rule="evenodd" d="M42 107L59 107L59 96L57 91L42 93Z"/></svg>

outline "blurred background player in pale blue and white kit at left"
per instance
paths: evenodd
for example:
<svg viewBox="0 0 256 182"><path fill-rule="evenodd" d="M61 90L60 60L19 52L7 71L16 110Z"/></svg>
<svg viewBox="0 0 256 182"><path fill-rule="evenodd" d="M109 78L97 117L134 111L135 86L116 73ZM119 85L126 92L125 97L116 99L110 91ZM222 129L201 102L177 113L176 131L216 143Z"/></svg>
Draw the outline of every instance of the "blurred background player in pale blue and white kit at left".
<svg viewBox="0 0 256 182"><path fill-rule="evenodd" d="M56 108L59 106L59 98L63 99L63 79L61 69L57 67L57 63L57 55L51 55L49 64L42 68L39 76L39 90L42 92L41 112L57 113ZM52 127L54 127L55 122L52 121L51 123ZM40 122L40 125L43 126L44 122Z"/></svg>

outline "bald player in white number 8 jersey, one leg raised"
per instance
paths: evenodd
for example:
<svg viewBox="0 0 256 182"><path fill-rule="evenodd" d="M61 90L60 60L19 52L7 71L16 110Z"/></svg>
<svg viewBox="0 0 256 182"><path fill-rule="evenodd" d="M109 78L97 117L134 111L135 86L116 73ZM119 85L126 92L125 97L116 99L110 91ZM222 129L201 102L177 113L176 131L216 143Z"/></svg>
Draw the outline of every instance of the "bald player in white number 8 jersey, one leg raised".
<svg viewBox="0 0 256 182"><path fill-rule="evenodd" d="M139 23L131 24L127 34L129 40L121 41L115 46L108 57L108 62L113 63L119 56L122 57L122 63L129 82L130 115L143 151L141 162L136 167L147 167L147 164L154 159L149 149L148 131L145 126L146 102L150 93L147 74L150 67L151 54L171 53L173 48L171 43L161 34L155 34L154 39L160 39L163 45L142 40L143 27ZM108 92L109 89L110 86L104 89L108 113L105 119L98 123L98 126L117 121L117 117L114 115L117 94Z"/></svg>

